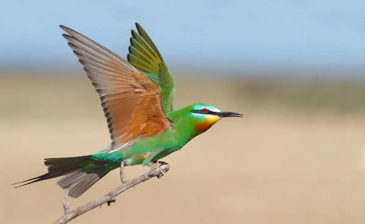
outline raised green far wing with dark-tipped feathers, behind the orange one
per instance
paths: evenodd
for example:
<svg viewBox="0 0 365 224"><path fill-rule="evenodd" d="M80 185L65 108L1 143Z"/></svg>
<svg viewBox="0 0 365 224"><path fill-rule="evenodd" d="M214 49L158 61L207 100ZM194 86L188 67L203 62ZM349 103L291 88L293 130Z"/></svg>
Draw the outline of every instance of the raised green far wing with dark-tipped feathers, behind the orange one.
<svg viewBox="0 0 365 224"><path fill-rule="evenodd" d="M175 95L175 83L167 68L164 59L151 38L138 23L135 24L137 31L132 30L129 46L128 62L140 71L145 72L150 79L161 88L162 105L165 113L173 110Z"/></svg>

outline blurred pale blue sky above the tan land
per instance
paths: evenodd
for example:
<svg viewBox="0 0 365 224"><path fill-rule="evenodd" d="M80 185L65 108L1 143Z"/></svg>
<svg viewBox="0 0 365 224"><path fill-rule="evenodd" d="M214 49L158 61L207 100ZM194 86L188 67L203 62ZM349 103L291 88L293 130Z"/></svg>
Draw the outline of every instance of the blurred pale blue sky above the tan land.
<svg viewBox="0 0 365 224"><path fill-rule="evenodd" d="M126 57L138 21L170 66L365 68L363 0L12 0L0 66L77 66L68 26Z"/></svg>

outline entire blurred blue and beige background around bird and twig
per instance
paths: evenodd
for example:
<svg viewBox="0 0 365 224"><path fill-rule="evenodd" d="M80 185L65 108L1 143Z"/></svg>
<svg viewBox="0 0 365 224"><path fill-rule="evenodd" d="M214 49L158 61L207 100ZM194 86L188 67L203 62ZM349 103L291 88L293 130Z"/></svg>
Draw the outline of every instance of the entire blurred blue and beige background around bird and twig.
<svg viewBox="0 0 365 224"><path fill-rule="evenodd" d="M175 108L224 119L166 157L170 171L72 223L364 223L365 2L6 1L0 8L0 222L63 213L43 158L90 154L110 139L97 94L59 24L126 58L149 33L176 82ZM148 169L126 169L127 178ZM111 172L76 208L120 184Z"/></svg>

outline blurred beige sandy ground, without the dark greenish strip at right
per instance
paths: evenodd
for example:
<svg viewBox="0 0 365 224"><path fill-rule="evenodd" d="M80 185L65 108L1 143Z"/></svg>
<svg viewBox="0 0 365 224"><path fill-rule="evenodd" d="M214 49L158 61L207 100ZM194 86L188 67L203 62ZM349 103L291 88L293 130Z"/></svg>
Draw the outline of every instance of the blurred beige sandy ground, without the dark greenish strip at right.
<svg viewBox="0 0 365 224"><path fill-rule="evenodd" d="M2 78L0 223L52 223L63 212L57 179L10 184L45 173L43 158L90 154L109 144L87 80L40 80ZM233 98L228 81L177 87L176 108L206 102L246 116L220 121L166 157L171 169L164 177L72 223L365 223L364 116L252 109ZM127 168L126 177L147 170ZM70 206L115 188L118 174Z"/></svg>

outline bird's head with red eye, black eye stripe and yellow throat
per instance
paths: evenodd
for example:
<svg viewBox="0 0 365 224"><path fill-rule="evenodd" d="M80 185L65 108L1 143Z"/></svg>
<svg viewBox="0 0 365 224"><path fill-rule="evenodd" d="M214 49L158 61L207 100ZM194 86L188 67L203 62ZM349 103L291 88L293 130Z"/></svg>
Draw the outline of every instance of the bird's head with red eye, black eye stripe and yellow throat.
<svg viewBox="0 0 365 224"><path fill-rule="evenodd" d="M220 111L214 106L204 103L196 103L190 106L190 115L194 129L198 134L203 133L224 117L242 117L243 114Z"/></svg>

